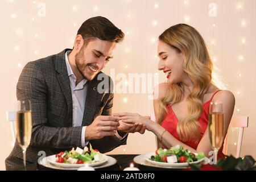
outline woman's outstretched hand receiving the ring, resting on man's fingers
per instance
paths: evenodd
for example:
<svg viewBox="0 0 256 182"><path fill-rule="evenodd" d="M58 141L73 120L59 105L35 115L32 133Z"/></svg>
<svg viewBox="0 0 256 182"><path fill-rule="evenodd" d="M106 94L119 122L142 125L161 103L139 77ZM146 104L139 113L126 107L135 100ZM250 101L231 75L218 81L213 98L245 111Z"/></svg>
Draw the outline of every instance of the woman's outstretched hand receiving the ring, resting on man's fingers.
<svg viewBox="0 0 256 182"><path fill-rule="evenodd" d="M118 119L127 124L142 123L148 131L150 131L152 125L155 123L150 120L149 116L142 116L138 113L115 113L113 116L118 117Z"/></svg>

